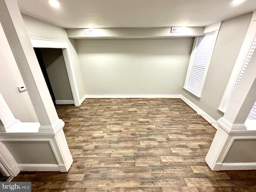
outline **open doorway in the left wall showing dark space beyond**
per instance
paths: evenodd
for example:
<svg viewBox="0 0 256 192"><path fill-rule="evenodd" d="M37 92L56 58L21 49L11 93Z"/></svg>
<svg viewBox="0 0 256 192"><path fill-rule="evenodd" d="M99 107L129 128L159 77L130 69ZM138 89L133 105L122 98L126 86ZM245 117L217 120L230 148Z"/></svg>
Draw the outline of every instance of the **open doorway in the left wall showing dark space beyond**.
<svg viewBox="0 0 256 192"><path fill-rule="evenodd" d="M60 48L34 48L54 104L74 104L65 60Z"/></svg>

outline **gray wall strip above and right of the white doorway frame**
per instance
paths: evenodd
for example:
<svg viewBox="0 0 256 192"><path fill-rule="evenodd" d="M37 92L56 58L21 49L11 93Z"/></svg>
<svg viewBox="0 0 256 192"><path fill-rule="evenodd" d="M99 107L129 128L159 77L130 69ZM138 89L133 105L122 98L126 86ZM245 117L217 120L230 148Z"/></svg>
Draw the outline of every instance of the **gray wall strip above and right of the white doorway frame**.
<svg viewBox="0 0 256 192"><path fill-rule="evenodd" d="M80 99L85 95L84 84L82 80L82 74L80 69L80 64L76 51L75 40L69 39L66 30L62 27L44 22L42 20L30 17L28 15L22 14L26 29L28 31L28 36L35 38L43 38L49 40L56 40L62 42L68 42L71 62L74 68L74 74L76 78L76 83L78 87L78 93Z"/></svg>

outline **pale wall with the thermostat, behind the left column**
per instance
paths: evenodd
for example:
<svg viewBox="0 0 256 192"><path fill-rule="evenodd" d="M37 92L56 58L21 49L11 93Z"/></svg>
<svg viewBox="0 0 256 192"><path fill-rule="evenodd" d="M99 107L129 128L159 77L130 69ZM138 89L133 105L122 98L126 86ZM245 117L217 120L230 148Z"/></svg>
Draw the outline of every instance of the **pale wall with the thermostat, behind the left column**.
<svg viewBox="0 0 256 192"><path fill-rule="evenodd" d="M28 92L19 92L24 85L20 71L0 24L0 92L16 119L22 122L38 122Z"/></svg>

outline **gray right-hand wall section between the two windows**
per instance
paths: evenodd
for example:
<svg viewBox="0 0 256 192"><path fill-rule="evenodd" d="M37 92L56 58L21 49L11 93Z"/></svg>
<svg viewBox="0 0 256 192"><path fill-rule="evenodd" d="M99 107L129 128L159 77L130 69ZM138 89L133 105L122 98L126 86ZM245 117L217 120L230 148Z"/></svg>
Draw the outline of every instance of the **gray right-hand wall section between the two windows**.
<svg viewBox="0 0 256 192"><path fill-rule="evenodd" d="M222 23L201 98L197 98L186 90L182 92L183 96L214 120L223 116L217 108L228 84L251 18L252 13L249 13Z"/></svg>

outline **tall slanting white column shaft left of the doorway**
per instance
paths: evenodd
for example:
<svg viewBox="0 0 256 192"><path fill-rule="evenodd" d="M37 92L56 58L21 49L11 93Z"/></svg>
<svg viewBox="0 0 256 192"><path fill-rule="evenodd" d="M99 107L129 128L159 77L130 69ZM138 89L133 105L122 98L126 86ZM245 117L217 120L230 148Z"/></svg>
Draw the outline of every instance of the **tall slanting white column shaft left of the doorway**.
<svg viewBox="0 0 256 192"><path fill-rule="evenodd" d="M60 120L15 0L0 0L0 22L40 122L39 131L54 132Z"/></svg>

